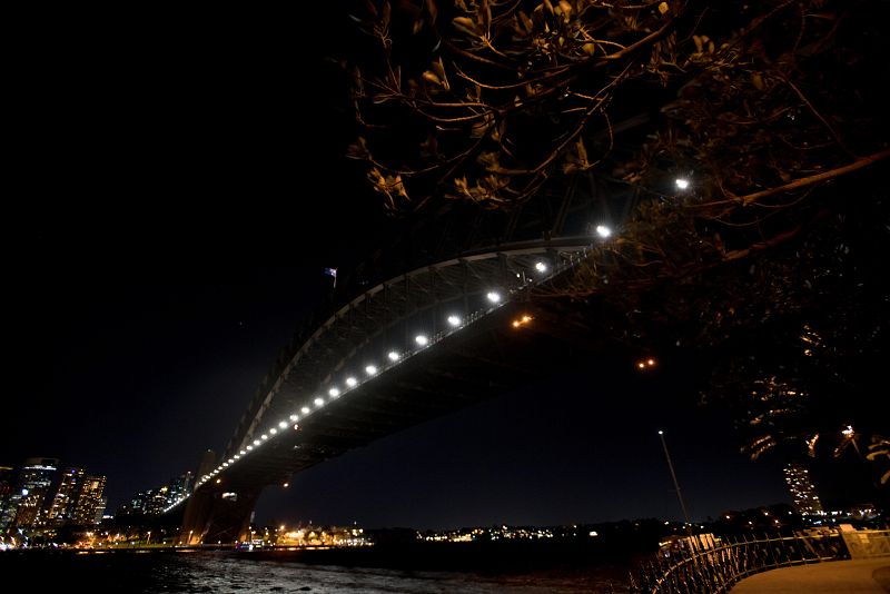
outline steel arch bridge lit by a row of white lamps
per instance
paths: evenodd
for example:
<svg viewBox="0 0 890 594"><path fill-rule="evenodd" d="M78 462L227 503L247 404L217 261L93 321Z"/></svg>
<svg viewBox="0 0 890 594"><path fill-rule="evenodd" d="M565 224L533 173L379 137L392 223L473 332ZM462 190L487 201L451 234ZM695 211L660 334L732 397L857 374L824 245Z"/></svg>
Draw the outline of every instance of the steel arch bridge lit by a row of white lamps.
<svg viewBox="0 0 890 594"><path fill-rule="evenodd" d="M258 390L218 465L188 498L182 537L189 544L244 539L263 487L602 352L604 338L576 304L557 297L585 249L575 240L482 253L408 273L354 299ZM452 311L457 323L443 324ZM425 334L428 344L412 340L416 328L433 330ZM384 346L395 338L399 346L387 360ZM376 367L363 369L368 360Z"/></svg>

